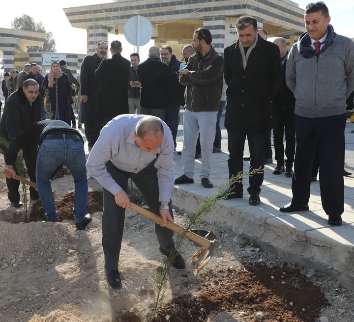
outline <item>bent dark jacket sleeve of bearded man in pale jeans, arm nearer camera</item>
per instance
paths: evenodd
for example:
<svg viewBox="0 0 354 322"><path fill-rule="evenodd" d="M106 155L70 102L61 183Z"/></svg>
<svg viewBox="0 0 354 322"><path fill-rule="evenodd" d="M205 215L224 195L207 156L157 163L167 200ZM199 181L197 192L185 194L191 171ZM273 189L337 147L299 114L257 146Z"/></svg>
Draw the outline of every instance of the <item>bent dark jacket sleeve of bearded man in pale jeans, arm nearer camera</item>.
<svg viewBox="0 0 354 322"><path fill-rule="evenodd" d="M189 71L183 77L188 78L188 80L194 83L195 85L209 85L215 82L215 80L217 80L220 76L223 75L223 65L224 58L219 55L218 57L212 60L212 64L209 65L210 68L206 68L202 71ZM185 85L184 82L183 85Z"/></svg>

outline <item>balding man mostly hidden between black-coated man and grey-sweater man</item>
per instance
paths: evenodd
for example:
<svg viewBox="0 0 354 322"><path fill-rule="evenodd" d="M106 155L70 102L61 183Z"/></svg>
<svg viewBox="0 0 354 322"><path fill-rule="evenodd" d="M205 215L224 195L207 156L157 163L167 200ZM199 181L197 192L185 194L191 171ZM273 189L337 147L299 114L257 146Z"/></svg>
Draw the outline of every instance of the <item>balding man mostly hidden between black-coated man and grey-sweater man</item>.
<svg viewBox="0 0 354 322"><path fill-rule="evenodd" d="M293 177L293 163L295 156L295 125L294 125L294 109L295 97L293 92L286 85L285 72L286 62L288 59L288 44L286 39L279 37L274 40L274 44L279 47L281 64L283 68L283 83L273 98L273 117L274 129L273 140L275 150L275 160L277 166L273 174L281 174L285 171L285 176ZM284 143L283 137L285 132L286 147L285 155L287 160L284 167Z"/></svg>

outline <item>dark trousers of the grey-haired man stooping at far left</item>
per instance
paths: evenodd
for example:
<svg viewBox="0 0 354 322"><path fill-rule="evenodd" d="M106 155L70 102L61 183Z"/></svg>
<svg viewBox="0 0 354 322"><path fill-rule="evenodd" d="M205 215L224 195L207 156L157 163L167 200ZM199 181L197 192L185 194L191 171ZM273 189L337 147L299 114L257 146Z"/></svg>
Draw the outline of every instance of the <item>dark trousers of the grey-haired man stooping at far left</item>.
<svg viewBox="0 0 354 322"><path fill-rule="evenodd" d="M6 159L7 150L4 149L4 157ZM23 148L23 158L26 163L27 173L29 175L29 180L32 182L36 182L35 177L35 169L36 169L36 161L37 161L37 147L35 145L31 145L29 147ZM17 169L15 164L14 169L17 173ZM6 179L6 185L8 188L7 197L10 202L17 204L20 201L20 193L18 191L20 187L20 182L15 179ZM29 196L31 199L35 200L39 198L38 192L36 189L29 187Z"/></svg>

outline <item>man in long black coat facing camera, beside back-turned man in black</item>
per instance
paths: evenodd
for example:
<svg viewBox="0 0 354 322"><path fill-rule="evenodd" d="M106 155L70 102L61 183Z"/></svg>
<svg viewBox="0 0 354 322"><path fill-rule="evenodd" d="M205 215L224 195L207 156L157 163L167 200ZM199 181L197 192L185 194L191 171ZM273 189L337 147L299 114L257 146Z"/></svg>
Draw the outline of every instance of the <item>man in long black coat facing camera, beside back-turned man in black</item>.
<svg viewBox="0 0 354 322"><path fill-rule="evenodd" d="M81 113L83 123L85 123L85 134L89 143L89 150L97 141L103 126L102 109L98 106L102 84L95 78L95 71L102 59L107 57L107 51L107 43L101 41L97 45L96 53L87 55L81 64Z"/></svg>

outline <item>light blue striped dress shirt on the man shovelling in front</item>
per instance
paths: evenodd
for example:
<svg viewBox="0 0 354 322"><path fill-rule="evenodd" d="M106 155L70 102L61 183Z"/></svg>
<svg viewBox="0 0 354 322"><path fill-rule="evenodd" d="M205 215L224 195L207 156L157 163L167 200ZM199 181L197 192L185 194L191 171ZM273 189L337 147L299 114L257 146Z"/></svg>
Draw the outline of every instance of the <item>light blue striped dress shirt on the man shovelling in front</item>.
<svg viewBox="0 0 354 322"><path fill-rule="evenodd" d="M172 133L165 122L161 120L164 137L156 156L139 148L133 134L138 121L144 115L118 115L102 129L97 142L89 154L86 168L89 175L105 189L116 195L122 188L112 178L106 169L106 162L111 161L118 169L126 172L138 173L148 166L154 159L157 169L159 186L159 201L170 201L174 186L173 152L175 144Z"/></svg>

